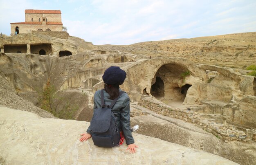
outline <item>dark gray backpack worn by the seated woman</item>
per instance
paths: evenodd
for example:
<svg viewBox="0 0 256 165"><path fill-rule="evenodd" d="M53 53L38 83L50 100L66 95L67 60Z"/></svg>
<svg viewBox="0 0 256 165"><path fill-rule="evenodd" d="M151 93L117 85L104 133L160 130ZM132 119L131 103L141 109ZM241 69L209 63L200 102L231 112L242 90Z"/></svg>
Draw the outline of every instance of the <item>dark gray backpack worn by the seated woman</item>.
<svg viewBox="0 0 256 165"><path fill-rule="evenodd" d="M96 108L91 121L92 141L99 147L115 147L119 145L120 130L117 126L112 107L124 91L112 101L110 106L104 103L104 90L101 90L101 108Z"/></svg>

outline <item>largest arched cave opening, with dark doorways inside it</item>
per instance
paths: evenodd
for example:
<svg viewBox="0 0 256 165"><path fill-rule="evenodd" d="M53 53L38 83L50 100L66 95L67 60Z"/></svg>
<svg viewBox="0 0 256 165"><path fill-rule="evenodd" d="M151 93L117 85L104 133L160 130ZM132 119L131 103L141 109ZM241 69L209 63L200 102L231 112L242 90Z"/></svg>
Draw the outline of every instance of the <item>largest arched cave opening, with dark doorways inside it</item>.
<svg viewBox="0 0 256 165"><path fill-rule="evenodd" d="M188 69L182 64L173 63L161 66L151 82L150 94L169 105L182 105L186 92L191 87L182 76L187 72Z"/></svg>

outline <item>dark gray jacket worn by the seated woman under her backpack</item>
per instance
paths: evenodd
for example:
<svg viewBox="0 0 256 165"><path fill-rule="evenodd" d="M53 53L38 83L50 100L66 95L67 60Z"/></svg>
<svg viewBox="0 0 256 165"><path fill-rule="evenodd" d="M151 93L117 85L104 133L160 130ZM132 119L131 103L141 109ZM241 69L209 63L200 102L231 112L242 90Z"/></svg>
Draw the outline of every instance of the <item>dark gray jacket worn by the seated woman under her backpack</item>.
<svg viewBox="0 0 256 165"><path fill-rule="evenodd" d="M110 105L112 100L108 99L110 97L108 93L104 90L104 101L105 104ZM93 112L96 108L101 107L101 92L100 90L96 91L94 94L94 107ZM126 144L134 143L132 137L132 132L130 130L130 98L126 93L123 93L115 105L112 107L112 112L115 114L118 127L123 130L124 138L126 139ZM88 127L87 133L91 134L91 128Z"/></svg>

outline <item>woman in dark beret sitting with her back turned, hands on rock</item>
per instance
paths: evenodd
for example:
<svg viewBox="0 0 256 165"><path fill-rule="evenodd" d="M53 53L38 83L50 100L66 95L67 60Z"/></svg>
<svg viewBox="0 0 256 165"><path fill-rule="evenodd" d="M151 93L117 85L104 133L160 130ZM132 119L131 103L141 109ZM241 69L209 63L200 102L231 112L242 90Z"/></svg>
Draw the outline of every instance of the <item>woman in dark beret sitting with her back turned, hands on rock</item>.
<svg viewBox="0 0 256 165"><path fill-rule="evenodd" d="M135 153L135 147L138 146L135 145L132 132L130 130L130 98L125 92L122 93L121 89L119 88L119 85L124 83L125 78L126 72L118 66L111 66L110 68L106 69L102 76L105 83L103 96L105 105L110 105L114 99L119 97L114 106L112 106L112 112L114 113L117 127L120 129L120 141L118 139L119 143L117 143L118 145L121 145L125 139L126 144L128 145L127 150L130 150L130 153ZM101 90L96 91L94 94L94 113L97 108L101 108ZM81 142L92 137L91 125L88 127L86 133L81 134Z"/></svg>

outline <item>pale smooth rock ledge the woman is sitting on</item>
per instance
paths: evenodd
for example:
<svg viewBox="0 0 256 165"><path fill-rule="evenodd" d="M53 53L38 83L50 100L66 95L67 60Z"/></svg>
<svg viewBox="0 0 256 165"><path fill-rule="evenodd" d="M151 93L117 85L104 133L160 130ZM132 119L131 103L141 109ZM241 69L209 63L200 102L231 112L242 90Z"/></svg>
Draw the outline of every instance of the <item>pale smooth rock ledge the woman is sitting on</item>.
<svg viewBox="0 0 256 165"><path fill-rule="evenodd" d="M11 118L10 118L11 116ZM31 124L33 123L33 124ZM0 163L13 164L226 164L228 159L134 133L139 148L101 148L80 142L85 121L44 119L31 112L0 107Z"/></svg>

